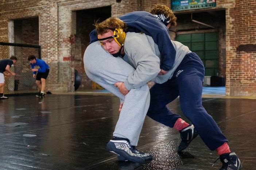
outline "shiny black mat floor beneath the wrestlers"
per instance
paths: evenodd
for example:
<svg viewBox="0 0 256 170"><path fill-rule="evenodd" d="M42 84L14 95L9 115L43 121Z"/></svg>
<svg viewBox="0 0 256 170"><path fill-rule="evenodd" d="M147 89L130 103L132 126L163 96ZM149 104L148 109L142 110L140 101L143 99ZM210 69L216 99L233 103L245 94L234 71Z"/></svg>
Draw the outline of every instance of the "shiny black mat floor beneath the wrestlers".
<svg viewBox="0 0 256 170"><path fill-rule="evenodd" d="M138 149L154 154L144 165L119 162L105 150L119 116L115 96L47 95L44 99L11 96L0 100L1 170L211 170L221 167L215 151L197 137L186 149L194 158L177 154L179 133L146 117ZM203 98L203 106L229 139L243 163L255 169L256 100ZM181 114L179 100L168 107ZM182 115L183 116L183 115ZM183 117L184 118L184 117ZM185 118L184 118L185 119ZM185 119L186 120L186 119Z"/></svg>

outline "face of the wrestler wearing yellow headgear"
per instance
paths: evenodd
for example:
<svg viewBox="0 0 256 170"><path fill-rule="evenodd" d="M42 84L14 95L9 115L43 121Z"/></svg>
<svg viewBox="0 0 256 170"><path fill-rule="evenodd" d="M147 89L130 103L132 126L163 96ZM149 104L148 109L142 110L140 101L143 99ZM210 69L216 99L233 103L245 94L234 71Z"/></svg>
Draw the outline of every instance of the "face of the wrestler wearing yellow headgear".
<svg viewBox="0 0 256 170"><path fill-rule="evenodd" d="M104 39L104 38L110 37L110 36L113 36L113 31L109 29L108 32L98 35L98 38ZM114 40L114 38L102 40L102 41L100 41L100 43L103 46L103 48L110 54L118 53L121 48L121 46L119 44L117 44L117 42Z"/></svg>

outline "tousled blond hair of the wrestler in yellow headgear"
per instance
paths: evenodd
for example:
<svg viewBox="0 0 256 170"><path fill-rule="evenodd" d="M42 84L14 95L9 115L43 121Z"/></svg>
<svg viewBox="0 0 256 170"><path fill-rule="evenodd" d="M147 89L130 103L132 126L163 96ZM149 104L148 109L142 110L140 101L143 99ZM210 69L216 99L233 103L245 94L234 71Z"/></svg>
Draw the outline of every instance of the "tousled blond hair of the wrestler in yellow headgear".
<svg viewBox="0 0 256 170"><path fill-rule="evenodd" d="M98 35L108 32L109 28L121 28L124 32L127 32L127 24L117 17L110 17L101 23L97 20L93 25L95 26Z"/></svg>

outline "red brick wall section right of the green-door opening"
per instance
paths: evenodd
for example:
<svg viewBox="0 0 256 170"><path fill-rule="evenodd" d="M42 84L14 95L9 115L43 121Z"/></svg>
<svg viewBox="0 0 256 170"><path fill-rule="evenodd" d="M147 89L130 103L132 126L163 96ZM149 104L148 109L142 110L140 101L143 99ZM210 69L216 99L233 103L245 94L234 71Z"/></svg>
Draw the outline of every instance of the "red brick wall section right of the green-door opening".
<svg viewBox="0 0 256 170"><path fill-rule="evenodd" d="M256 0L217 1L226 8L226 94L256 95Z"/></svg>

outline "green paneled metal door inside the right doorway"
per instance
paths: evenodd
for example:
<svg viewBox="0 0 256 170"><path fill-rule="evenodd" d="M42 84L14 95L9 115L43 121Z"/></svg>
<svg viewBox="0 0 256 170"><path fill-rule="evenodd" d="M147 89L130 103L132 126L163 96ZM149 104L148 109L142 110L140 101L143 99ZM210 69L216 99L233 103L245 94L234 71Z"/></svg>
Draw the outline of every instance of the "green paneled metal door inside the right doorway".
<svg viewBox="0 0 256 170"><path fill-rule="evenodd" d="M198 54L205 66L205 76L218 75L218 32L181 34L177 36L177 41Z"/></svg>

